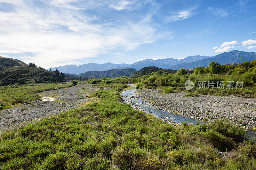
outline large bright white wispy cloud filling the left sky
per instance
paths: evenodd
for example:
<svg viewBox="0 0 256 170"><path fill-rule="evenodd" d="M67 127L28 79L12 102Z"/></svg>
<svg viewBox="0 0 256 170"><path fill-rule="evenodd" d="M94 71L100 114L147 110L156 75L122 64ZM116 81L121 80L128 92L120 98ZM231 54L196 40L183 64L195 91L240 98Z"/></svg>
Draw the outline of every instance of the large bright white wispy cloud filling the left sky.
<svg viewBox="0 0 256 170"><path fill-rule="evenodd" d="M109 54L114 49L132 50L171 34L156 33L155 23L148 14L136 21L102 24L101 16L81 12L73 5L79 1L44 1L35 6L33 1L4 0L14 5L16 11L0 11L1 55L12 57L32 53L33 57L15 58L49 68L77 64L78 60Z"/></svg>

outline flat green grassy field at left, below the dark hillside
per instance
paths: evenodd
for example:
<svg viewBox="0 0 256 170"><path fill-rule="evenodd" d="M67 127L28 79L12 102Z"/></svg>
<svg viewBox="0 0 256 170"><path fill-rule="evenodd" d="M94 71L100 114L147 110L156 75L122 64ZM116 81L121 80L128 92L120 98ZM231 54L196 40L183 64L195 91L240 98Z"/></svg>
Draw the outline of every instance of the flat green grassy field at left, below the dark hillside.
<svg viewBox="0 0 256 170"><path fill-rule="evenodd" d="M0 86L1 109L12 107L19 103L26 103L40 99L38 92L54 90L60 88L68 88L73 86L72 83L39 83L30 85L7 85Z"/></svg>

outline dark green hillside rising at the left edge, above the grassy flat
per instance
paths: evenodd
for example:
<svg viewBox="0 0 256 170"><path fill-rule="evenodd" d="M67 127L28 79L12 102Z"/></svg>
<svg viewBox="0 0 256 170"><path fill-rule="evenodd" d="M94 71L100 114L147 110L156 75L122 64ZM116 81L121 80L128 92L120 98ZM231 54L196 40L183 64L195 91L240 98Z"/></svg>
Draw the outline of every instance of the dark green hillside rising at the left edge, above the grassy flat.
<svg viewBox="0 0 256 170"><path fill-rule="evenodd" d="M12 58L0 57L0 85L65 82L65 78L41 67L29 67L28 64Z"/></svg>

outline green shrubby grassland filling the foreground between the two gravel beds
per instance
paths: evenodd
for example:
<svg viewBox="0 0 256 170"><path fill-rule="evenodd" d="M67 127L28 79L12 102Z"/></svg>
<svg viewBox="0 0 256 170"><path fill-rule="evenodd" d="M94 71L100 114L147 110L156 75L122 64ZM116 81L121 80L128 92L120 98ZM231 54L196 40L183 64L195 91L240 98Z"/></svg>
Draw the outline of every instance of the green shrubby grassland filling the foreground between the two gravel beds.
<svg viewBox="0 0 256 170"><path fill-rule="evenodd" d="M173 127L122 103L118 90L100 90L84 107L6 131L0 169L256 167L256 145L244 139L244 130L221 121Z"/></svg>

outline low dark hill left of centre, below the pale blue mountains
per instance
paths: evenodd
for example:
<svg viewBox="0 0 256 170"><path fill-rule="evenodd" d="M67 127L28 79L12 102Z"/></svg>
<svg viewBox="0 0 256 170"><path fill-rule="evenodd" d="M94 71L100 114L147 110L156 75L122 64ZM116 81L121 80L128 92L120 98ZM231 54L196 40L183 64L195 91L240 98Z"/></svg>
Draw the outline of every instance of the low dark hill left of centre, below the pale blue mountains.
<svg viewBox="0 0 256 170"><path fill-rule="evenodd" d="M133 68L127 68L127 69L112 69L112 70L107 70L107 71L87 71L85 73L81 73L79 75L75 74L64 74L65 77L68 80L73 80L76 79L76 77L82 77L82 78L115 78L115 77L120 77L120 76L127 76L127 77L132 77L132 75L136 72L137 70Z"/></svg>

